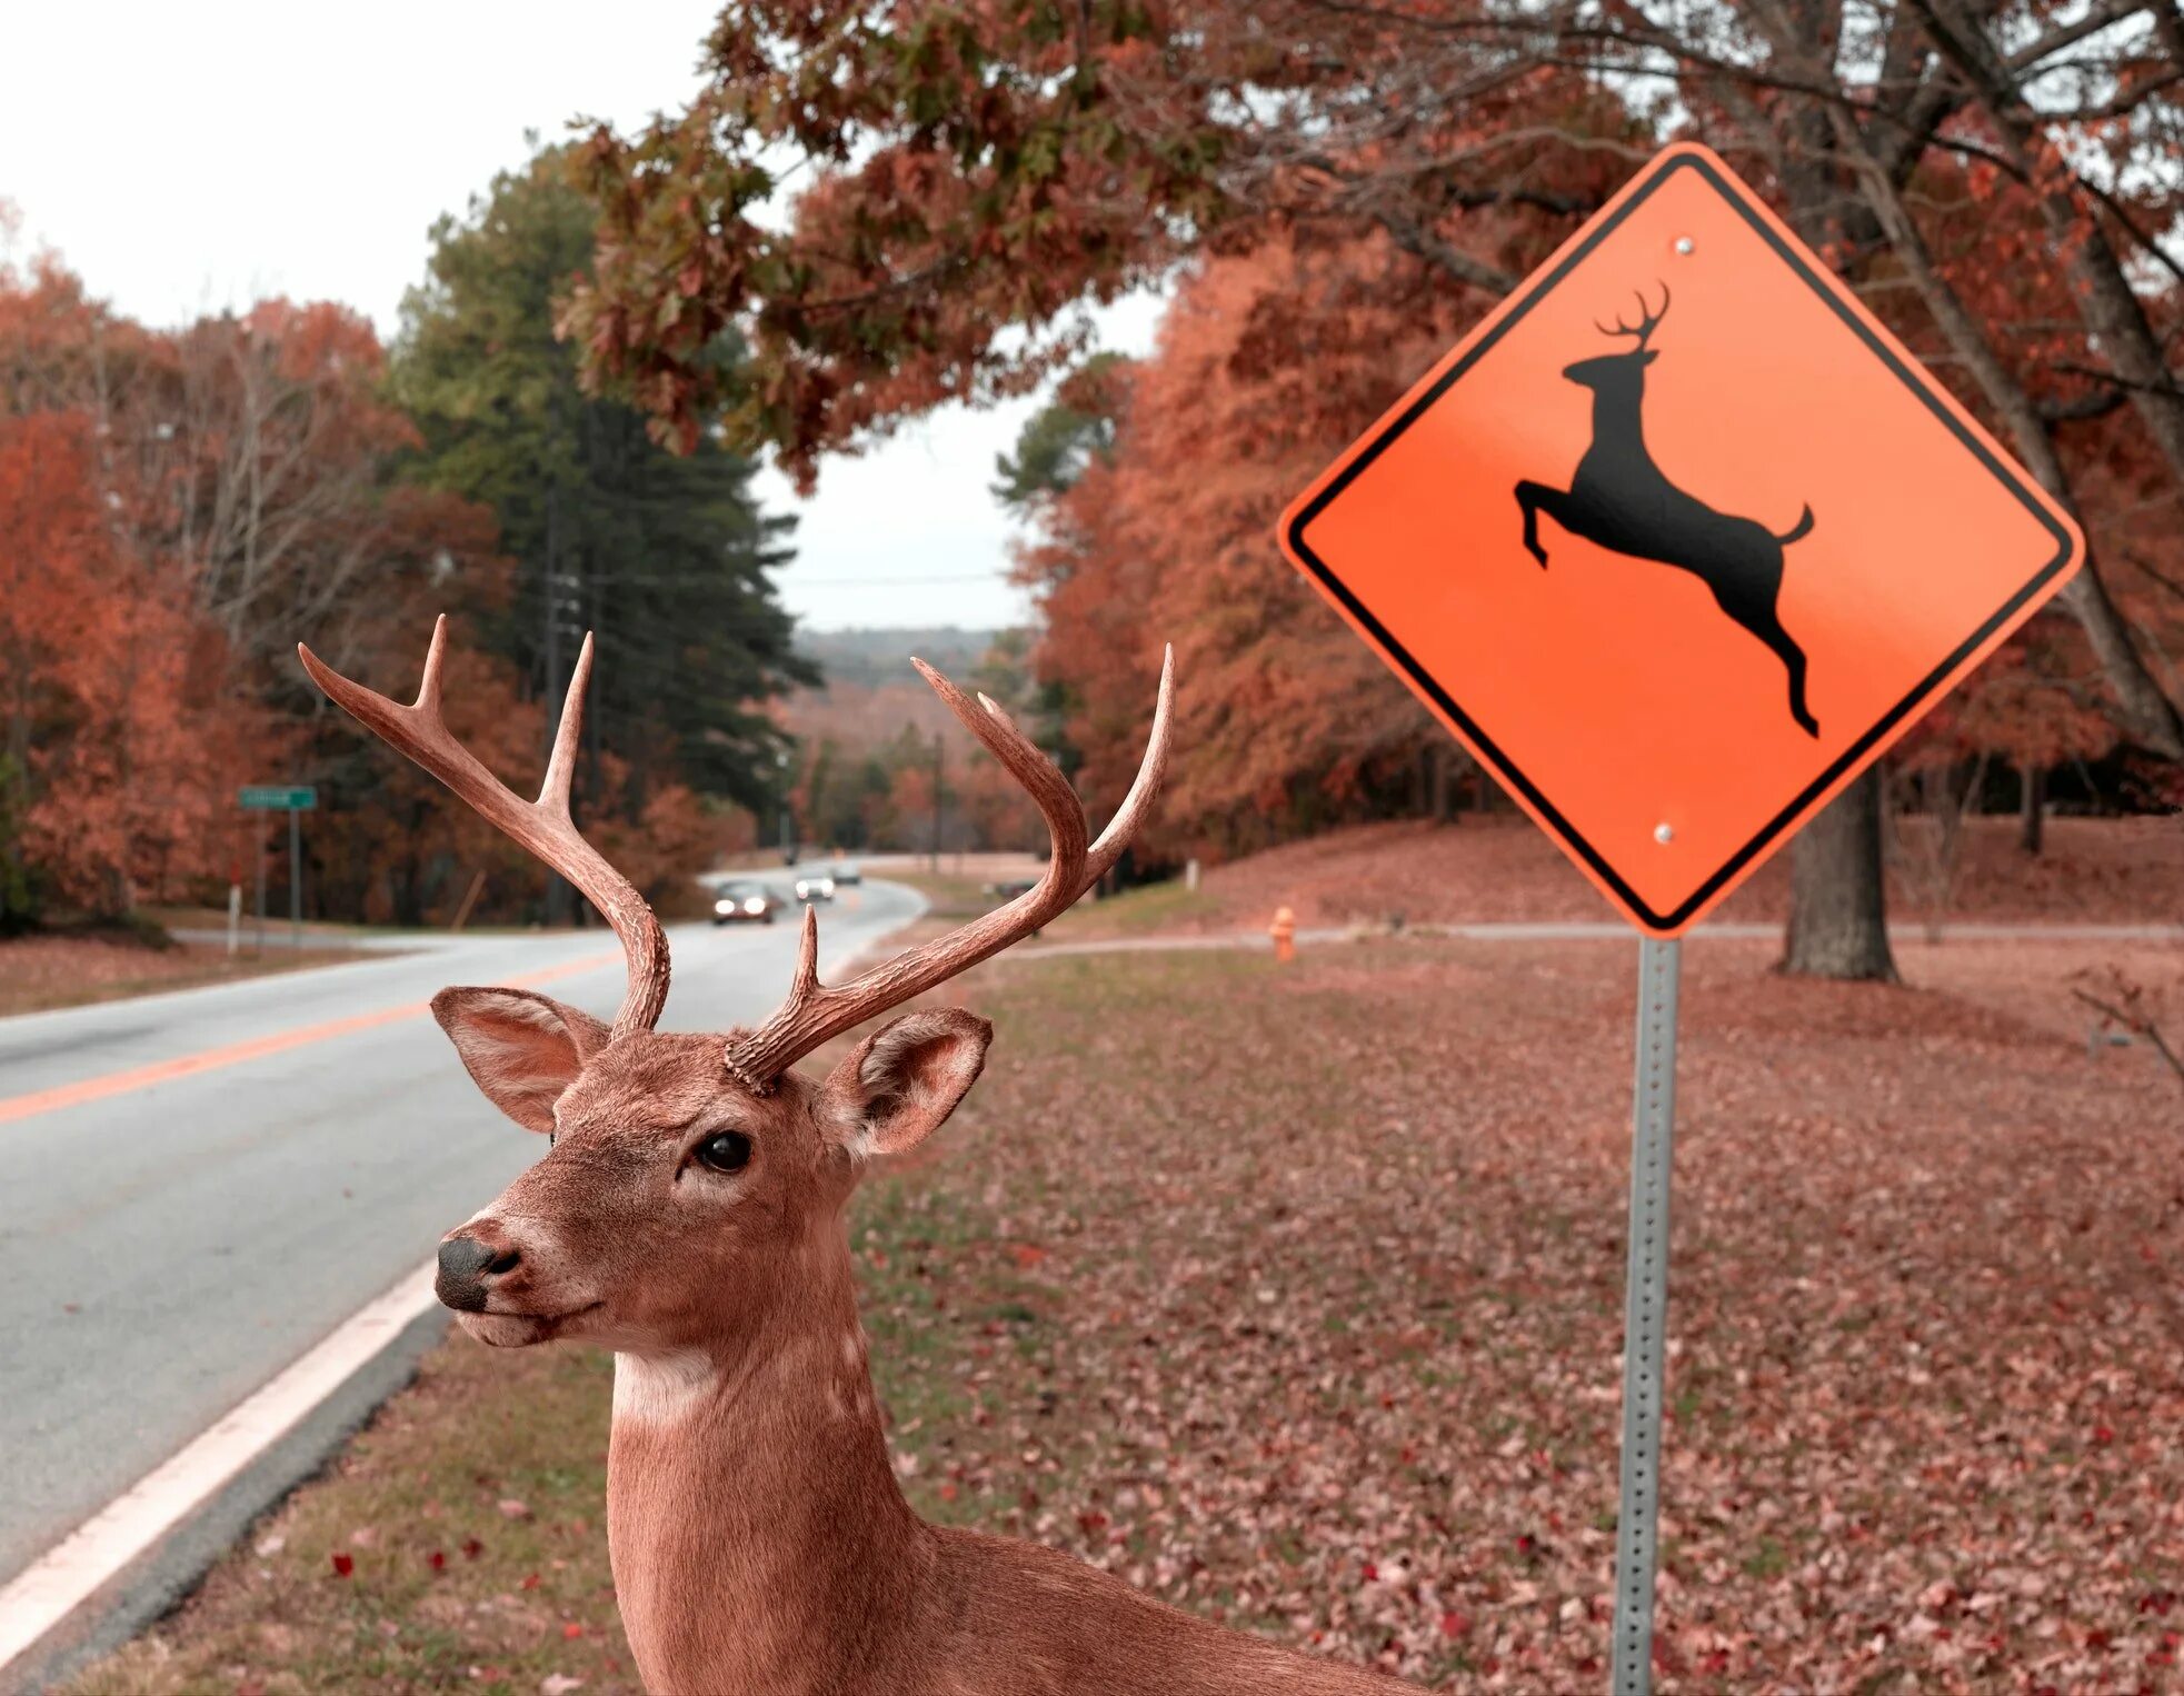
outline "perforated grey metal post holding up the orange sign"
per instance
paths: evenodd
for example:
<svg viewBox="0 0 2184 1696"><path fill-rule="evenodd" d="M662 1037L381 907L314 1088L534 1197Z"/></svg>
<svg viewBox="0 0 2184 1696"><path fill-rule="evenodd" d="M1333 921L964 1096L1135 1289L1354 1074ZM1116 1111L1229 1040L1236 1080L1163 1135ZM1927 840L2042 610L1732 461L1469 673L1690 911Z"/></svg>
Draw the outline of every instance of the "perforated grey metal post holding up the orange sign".
<svg viewBox="0 0 2184 1696"><path fill-rule="evenodd" d="M1669 1168L1675 1155L1675 993L1682 945L1638 943L1638 1080L1623 1305L1623 1502L1616 1508L1614 1696L1653 1689L1653 1532L1669 1340Z"/></svg>

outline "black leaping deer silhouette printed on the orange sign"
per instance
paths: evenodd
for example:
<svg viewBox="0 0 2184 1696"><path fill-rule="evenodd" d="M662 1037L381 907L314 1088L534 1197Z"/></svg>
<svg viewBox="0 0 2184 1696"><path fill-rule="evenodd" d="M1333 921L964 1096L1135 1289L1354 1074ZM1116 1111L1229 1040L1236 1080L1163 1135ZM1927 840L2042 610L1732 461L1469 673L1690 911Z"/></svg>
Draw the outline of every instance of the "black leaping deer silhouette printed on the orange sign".
<svg viewBox="0 0 2184 1696"><path fill-rule="evenodd" d="M1627 354L1601 354L1564 367L1562 375L1592 391L1592 445L1577 461L1570 487L1548 489L1544 482L1516 485L1516 504L1524 509L1524 546L1546 568L1540 546L1540 513L1546 513L1570 535L1610 548L1631 559L1651 559L1693 572L1714 592L1714 605L1752 635L1773 648L1789 668L1789 714L1806 736L1819 736L1819 725L1804 705L1804 648L1800 648L1776 616L1782 594L1782 550L1813 528L1813 509L1776 535L1758 519L1717 513L1697 495L1677 489L1653 463L1645 445L1645 369L1660 358L1647 341L1669 314L1669 284L1660 286L1660 310L1638 295L1638 323L1614 330L1594 323L1603 336L1636 336Z"/></svg>

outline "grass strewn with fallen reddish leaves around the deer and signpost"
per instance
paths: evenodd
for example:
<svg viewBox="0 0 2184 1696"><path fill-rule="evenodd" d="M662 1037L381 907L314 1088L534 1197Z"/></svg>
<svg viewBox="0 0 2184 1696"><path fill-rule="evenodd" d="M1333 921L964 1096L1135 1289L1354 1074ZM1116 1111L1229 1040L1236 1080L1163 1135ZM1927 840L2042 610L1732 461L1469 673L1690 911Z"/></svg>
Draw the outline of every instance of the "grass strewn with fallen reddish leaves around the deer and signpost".
<svg viewBox="0 0 2184 1696"><path fill-rule="evenodd" d="M1422 1685L1601 1687L1634 954L981 969L985 1080L852 1220L917 1506ZM2160 949L1769 954L1686 947L1658 1689L2184 1687L2184 1091L2066 989ZM441 1349L79 1689L633 1689L605 1425L596 1358Z"/></svg>

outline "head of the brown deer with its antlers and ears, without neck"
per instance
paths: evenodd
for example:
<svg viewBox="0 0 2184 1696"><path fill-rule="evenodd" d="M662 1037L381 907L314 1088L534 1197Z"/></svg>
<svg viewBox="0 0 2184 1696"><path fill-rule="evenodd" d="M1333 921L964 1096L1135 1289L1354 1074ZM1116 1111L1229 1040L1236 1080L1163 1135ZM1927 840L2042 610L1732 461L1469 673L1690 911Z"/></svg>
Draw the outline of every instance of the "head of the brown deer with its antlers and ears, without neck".
<svg viewBox="0 0 2184 1696"><path fill-rule="evenodd" d="M1144 762L1114 821L1088 843L1068 779L992 701L968 701L919 672L954 716L1033 795L1053 836L1037 886L983 919L911 947L850 982L819 982L819 930L804 934L788 998L727 1035L653 1030L668 989L660 921L570 821L592 640L570 679L546 786L511 795L448 733L441 709L446 620L424 685L402 707L328 670L304 668L380 740L439 777L507 836L568 877L622 941L629 991L614 1024L520 989L446 989L432 1013L478 1089L548 1152L439 1246L439 1297L463 1329L496 1347L587 1338L662 1355L716 1358L760 1347L793 1316L812 1255L843 1253L839 1214L876 1155L928 1137L985 1063L992 1028L961 1008L909 1013L865 1037L823 1078L791 1067L830 1037L919 995L1085 893L1138 832L1168 753L1173 655ZM738 1342L743 1340L743 1342Z"/></svg>

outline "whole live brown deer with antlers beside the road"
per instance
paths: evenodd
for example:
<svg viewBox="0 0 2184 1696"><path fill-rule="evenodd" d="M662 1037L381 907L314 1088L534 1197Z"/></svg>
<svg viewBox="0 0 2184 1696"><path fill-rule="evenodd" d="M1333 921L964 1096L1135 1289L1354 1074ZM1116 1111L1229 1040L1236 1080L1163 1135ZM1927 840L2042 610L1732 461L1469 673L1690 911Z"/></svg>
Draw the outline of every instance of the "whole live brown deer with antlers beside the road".
<svg viewBox="0 0 2184 1696"><path fill-rule="evenodd" d="M865 1369L843 1203L874 1157L924 1142L985 1063L992 1026L906 1013L823 1080L791 1067L1068 910L1160 788L1173 657L1123 808L1088 843L1068 779L981 696L919 666L1031 790L1053 834L1037 886L863 976L821 987L817 921L788 1000L725 1037L653 1030L668 947L568 810L592 644L546 786L524 803L441 720L446 620L417 703L301 650L369 731L568 877L620 936L614 1024L520 989L446 989L432 1013L485 1096L550 1137L544 1159L439 1246L439 1297L498 1349L614 1349L607 1545L646 1689L675 1696L1243 1696L1380 1692L1164 1607L1055 1550L928 1526L889 1460Z"/></svg>

